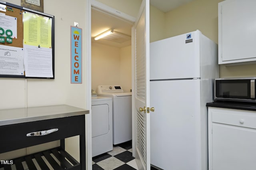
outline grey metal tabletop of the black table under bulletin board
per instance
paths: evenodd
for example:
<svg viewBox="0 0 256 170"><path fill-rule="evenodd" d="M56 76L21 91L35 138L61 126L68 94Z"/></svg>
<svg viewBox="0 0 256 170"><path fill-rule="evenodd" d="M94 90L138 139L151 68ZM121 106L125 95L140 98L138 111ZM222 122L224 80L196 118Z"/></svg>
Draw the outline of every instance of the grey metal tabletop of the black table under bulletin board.
<svg viewBox="0 0 256 170"><path fill-rule="evenodd" d="M69 105L52 105L0 110L0 126L88 114L89 110Z"/></svg>

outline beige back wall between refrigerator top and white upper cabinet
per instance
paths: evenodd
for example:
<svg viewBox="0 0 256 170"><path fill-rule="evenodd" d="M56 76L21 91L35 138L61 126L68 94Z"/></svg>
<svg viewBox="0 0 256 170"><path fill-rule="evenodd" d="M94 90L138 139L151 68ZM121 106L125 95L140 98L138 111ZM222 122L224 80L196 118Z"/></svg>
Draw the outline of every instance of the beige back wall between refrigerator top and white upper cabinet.
<svg viewBox="0 0 256 170"><path fill-rule="evenodd" d="M194 0L166 13L166 37L200 30L218 43L218 2L223 0Z"/></svg>

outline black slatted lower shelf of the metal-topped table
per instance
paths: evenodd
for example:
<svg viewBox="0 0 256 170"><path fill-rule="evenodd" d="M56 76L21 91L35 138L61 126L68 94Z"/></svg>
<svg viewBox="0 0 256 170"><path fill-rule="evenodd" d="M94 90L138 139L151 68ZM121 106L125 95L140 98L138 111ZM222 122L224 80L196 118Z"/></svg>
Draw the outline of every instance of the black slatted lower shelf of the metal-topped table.
<svg viewBox="0 0 256 170"><path fill-rule="evenodd" d="M0 170L80 170L77 162L60 147L9 160L13 164L0 164Z"/></svg>

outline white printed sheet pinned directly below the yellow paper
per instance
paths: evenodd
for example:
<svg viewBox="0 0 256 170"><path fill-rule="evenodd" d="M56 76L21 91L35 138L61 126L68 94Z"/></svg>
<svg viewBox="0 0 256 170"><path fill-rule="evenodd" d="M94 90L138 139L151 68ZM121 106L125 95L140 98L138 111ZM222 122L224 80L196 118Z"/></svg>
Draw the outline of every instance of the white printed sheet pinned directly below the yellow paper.
<svg viewBox="0 0 256 170"><path fill-rule="evenodd" d="M52 49L24 45L26 77L53 77Z"/></svg>

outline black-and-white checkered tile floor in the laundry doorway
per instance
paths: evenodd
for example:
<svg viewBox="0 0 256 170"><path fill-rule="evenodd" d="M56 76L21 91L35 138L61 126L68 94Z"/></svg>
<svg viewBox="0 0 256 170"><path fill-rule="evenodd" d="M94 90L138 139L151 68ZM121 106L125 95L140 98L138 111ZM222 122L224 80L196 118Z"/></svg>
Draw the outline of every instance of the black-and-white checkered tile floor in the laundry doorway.
<svg viewBox="0 0 256 170"><path fill-rule="evenodd" d="M138 170L132 156L132 142L113 147L113 150L92 158L92 170ZM151 170L157 170L151 167Z"/></svg>

